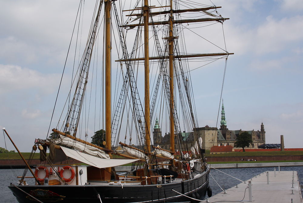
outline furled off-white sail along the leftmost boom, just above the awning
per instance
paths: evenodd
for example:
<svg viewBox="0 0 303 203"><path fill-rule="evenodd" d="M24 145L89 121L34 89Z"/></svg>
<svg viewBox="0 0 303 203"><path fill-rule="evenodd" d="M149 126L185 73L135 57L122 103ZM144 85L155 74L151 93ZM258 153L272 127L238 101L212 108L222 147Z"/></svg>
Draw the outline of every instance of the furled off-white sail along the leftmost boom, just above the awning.
<svg viewBox="0 0 303 203"><path fill-rule="evenodd" d="M70 139L68 137L60 135L58 139L52 140L52 143L54 144L62 144L66 146L72 146L75 150L79 150L82 152L85 152L87 154L90 154L95 157L100 157L102 159L109 159L109 155L105 153L105 151L100 150L96 147L86 145L84 143L80 143L74 139Z"/></svg>

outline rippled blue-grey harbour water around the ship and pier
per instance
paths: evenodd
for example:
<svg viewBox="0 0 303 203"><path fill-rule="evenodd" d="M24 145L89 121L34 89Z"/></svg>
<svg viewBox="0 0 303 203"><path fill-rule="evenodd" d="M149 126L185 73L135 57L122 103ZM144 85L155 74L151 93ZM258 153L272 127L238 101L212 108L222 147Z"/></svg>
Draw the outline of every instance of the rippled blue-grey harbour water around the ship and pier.
<svg viewBox="0 0 303 203"><path fill-rule="evenodd" d="M261 167L261 168L229 168L229 169L220 169L224 173L227 173L233 177L236 177L242 181L246 181L251 177L254 177L257 174L261 174L267 170L273 171L274 167ZM276 167L278 170L278 167ZM281 167L281 170L286 171L298 171L298 176L300 179L300 184L303 184L303 167ZM0 202L10 202L15 203L17 202L15 196L12 192L8 189L8 185L10 183L17 184L18 179L16 176L21 176L23 174L24 169L0 169ZM278 172L277 172L278 173ZM225 189L231 188L237 184L240 184L241 181L238 181L228 175L225 175L217 170L211 169L211 175L215 178L218 184ZM27 176L32 176L28 171ZM35 181L31 179L26 180L28 184L35 184ZM219 186L215 183L213 178L209 178L210 186L212 189L212 194L218 194L222 190Z"/></svg>

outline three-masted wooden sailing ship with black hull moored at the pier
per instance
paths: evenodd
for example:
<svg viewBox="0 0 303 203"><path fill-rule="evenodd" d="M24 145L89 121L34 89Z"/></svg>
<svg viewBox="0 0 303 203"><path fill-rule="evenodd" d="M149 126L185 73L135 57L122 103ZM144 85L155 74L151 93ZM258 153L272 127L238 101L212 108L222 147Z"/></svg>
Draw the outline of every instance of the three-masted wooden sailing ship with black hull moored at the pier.
<svg viewBox="0 0 303 203"><path fill-rule="evenodd" d="M35 178L35 185L26 184L24 173L18 185L8 186L19 202L197 202L205 199L206 193L211 196L209 166L198 131L188 58L217 60L227 58L232 53L187 54L182 47L184 38L181 35L186 28L184 24L223 23L228 18L218 14L217 9L221 7L182 8L177 3L170 0L168 5L155 6L143 0L141 4L138 1L130 9L118 12L116 1L97 1L85 51L78 70L73 74L71 87L75 91L73 95L72 90L69 92L66 100L68 106L64 107L67 110L62 111L67 112L64 122L59 126L59 121L56 128L52 129L51 139L35 140L32 153L39 149L42 160L35 171L28 165L30 160L25 161L28 166L26 170L30 170ZM191 1L188 3L200 5ZM125 12L128 15L123 20ZM182 19L186 13L208 17ZM159 21L154 21L156 18ZM92 66L99 33L102 33L99 32L101 25L104 26L105 66L102 70L105 73L102 73L104 81L102 79L101 84L102 89L105 89L102 97L105 106L100 107L100 112L102 117L105 115L105 131L102 131L101 143L92 144L86 141L89 127L83 124L88 122L85 120L87 117L83 116L86 111L83 106L90 104L86 101L86 96L91 94L87 93L91 79L89 67ZM116 25L115 29L113 25ZM111 60L113 33L117 37L117 50L120 51L115 62ZM130 43L128 38L134 40L134 43ZM132 49L129 49L132 45ZM152 56L149 56L150 47L153 47ZM121 66L122 83L118 85L120 94L116 86L112 95L111 65L114 63ZM138 77L142 71L137 68L136 72L135 67L139 65L144 66L144 77ZM155 70L152 93L151 70ZM139 95L143 83L144 105ZM116 104L114 112L113 103ZM152 135L150 128L151 121L156 117L156 106L161 108L158 111L159 118L167 118L169 126L170 147L166 149L156 146L156 135ZM84 133L81 125L84 125ZM127 129L126 132L121 130L122 127ZM190 131L190 145L182 139L182 128ZM81 139L81 134L84 139ZM124 143L120 142L119 135L122 134ZM129 143L126 142L127 138ZM137 138L136 145L132 144L134 138ZM120 147L115 148L118 142ZM47 148L49 155L46 154ZM191 156L183 153L189 150ZM69 163L71 158L86 165ZM62 161L65 163L62 164ZM132 164L131 174L119 175L115 171L115 167L124 164Z"/></svg>

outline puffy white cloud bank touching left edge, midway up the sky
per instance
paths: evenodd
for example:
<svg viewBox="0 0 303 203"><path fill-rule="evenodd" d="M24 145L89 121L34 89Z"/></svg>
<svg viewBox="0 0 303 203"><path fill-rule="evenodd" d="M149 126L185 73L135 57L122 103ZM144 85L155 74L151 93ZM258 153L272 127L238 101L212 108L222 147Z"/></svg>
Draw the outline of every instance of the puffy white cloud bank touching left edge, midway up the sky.
<svg viewBox="0 0 303 203"><path fill-rule="evenodd" d="M58 87L53 82L56 77L57 74L42 74L29 68L0 64L0 95L29 89L51 93Z"/></svg>

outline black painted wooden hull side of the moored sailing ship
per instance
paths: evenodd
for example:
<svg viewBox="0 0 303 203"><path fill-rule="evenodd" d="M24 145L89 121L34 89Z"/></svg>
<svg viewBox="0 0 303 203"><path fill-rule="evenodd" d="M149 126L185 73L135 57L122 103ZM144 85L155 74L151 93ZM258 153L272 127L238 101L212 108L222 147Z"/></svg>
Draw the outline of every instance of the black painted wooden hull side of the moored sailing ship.
<svg viewBox="0 0 303 203"><path fill-rule="evenodd" d="M21 203L33 202L33 199L14 186L8 186L17 200ZM178 183L158 185L33 185L17 186L23 191L33 194L40 201L54 202L181 202L193 201L188 197L177 194L178 191L187 196L203 200L208 188L208 172L199 177ZM175 190L175 191L172 191ZM47 192L49 191L49 192ZM39 196L41 195L41 196Z"/></svg>

